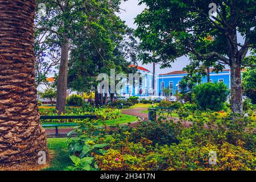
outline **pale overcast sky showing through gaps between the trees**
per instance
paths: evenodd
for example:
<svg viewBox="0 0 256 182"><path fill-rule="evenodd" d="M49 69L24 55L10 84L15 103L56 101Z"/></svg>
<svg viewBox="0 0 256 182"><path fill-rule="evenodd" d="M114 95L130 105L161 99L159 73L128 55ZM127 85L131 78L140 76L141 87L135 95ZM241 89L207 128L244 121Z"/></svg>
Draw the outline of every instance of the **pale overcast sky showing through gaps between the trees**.
<svg viewBox="0 0 256 182"><path fill-rule="evenodd" d="M134 18L140 14L144 8L145 5L138 5L138 0L128 0L126 2L122 2L121 9L125 10L122 11L121 14L118 14L122 20L124 20L127 24L127 26L131 28L137 28L136 24L134 24ZM238 42L242 43L244 42L241 35L238 35ZM140 66L149 69L152 71L152 64L148 65L142 65L142 63L138 63ZM172 63L172 68L166 68L166 69L160 69L159 65L156 65L156 73L168 73L171 71L179 71L182 70L187 64L189 64L188 57L180 57L175 61L175 63ZM228 68L228 67L227 67Z"/></svg>

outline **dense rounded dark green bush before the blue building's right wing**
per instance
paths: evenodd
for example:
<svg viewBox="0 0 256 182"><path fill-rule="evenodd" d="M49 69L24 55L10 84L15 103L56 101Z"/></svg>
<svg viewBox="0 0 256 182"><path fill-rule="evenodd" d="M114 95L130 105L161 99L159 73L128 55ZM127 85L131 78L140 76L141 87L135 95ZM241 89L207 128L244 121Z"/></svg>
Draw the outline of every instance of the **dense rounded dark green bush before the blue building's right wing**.
<svg viewBox="0 0 256 182"><path fill-rule="evenodd" d="M197 85L193 88L195 102L201 110L219 111L224 108L224 103L228 97L229 90L222 82Z"/></svg>

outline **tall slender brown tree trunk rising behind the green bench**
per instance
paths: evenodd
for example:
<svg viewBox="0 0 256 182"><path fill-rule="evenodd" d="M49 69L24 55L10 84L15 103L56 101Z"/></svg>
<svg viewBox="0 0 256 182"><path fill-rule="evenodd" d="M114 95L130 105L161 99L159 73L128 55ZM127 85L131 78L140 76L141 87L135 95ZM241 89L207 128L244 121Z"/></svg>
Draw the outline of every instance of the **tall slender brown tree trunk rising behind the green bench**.
<svg viewBox="0 0 256 182"><path fill-rule="evenodd" d="M61 45L60 69L57 82L56 110L58 111L58 114L65 113L68 84L68 48L69 39L67 35L64 35L63 43Z"/></svg>

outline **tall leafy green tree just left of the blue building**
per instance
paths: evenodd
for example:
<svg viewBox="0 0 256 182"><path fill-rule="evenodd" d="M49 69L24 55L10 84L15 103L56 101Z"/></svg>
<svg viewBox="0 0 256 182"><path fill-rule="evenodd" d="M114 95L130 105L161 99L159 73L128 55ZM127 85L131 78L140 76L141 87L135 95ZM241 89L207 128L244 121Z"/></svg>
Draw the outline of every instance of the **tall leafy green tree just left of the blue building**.
<svg viewBox="0 0 256 182"><path fill-rule="evenodd" d="M90 28L82 30L73 39L68 87L78 92L95 92L96 105L106 105L108 92L105 96L98 94L97 76L106 73L110 77L110 69L115 69L115 75L134 72L128 66L136 59L137 40L134 30L127 28L107 5L90 18L87 26ZM114 94L110 96L113 99Z"/></svg>

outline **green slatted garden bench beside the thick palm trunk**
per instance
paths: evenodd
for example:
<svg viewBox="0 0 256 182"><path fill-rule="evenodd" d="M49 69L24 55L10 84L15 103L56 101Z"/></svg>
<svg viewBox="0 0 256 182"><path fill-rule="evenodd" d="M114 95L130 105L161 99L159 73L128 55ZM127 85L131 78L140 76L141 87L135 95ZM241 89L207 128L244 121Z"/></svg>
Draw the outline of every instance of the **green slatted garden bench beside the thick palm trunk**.
<svg viewBox="0 0 256 182"><path fill-rule="evenodd" d="M46 119L97 119L96 115L42 115L40 119L46 120ZM59 135L58 127L61 126L78 126L77 124L48 124L48 125L42 125L43 127L55 127L55 136L57 137Z"/></svg>

